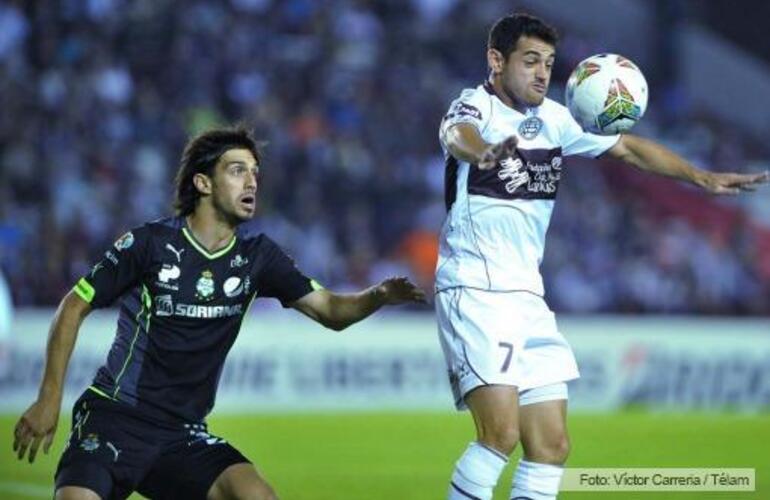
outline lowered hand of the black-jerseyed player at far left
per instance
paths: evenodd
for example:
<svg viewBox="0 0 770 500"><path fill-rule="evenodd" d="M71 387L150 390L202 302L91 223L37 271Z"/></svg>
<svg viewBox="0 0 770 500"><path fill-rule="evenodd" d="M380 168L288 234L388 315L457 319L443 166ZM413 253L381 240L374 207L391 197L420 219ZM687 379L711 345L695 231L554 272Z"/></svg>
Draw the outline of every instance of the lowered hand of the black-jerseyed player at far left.
<svg viewBox="0 0 770 500"><path fill-rule="evenodd" d="M13 431L13 451L19 460L29 449L29 463L34 462L41 442L48 454L59 422L59 408L57 402L38 399L24 412Z"/></svg>

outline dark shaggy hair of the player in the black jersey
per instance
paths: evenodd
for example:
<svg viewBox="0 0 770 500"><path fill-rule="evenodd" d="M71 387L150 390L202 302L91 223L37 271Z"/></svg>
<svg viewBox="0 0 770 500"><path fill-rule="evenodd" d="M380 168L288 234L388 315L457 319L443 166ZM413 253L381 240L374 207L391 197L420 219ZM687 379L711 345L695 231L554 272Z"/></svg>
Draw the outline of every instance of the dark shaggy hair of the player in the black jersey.
<svg viewBox="0 0 770 500"><path fill-rule="evenodd" d="M211 177L219 158L230 149L248 149L257 164L262 162L259 145L245 125L208 130L190 139L176 174L174 209L177 215L190 215L195 211L201 197L193 183L195 174Z"/></svg>

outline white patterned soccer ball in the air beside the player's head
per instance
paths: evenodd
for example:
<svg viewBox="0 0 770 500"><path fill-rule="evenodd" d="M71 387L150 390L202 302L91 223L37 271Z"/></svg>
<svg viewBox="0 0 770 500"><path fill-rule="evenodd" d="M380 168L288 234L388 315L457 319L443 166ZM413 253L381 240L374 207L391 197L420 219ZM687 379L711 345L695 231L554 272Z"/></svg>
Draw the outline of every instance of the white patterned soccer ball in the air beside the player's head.
<svg viewBox="0 0 770 500"><path fill-rule="evenodd" d="M647 109L647 81L617 54L591 56L567 80L567 108L588 132L612 135L634 126Z"/></svg>

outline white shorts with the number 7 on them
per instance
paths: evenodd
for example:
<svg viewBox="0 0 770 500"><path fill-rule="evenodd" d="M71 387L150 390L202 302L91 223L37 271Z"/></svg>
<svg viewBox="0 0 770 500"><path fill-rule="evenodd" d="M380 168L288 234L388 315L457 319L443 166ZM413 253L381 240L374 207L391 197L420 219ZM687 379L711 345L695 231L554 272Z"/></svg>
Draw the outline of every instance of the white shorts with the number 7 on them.
<svg viewBox="0 0 770 500"><path fill-rule="evenodd" d="M436 315L457 409L466 408L465 395L479 386L512 385L523 393L580 377L572 349L538 295L449 288L436 294Z"/></svg>

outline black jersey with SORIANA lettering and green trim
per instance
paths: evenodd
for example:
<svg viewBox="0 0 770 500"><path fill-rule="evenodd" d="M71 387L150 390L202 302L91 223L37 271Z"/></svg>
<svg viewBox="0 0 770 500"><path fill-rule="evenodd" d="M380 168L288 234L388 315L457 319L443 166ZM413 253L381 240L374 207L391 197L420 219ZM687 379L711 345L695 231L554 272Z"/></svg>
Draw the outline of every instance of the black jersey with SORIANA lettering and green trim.
<svg viewBox="0 0 770 500"><path fill-rule="evenodd" d="M94 308L123 296L91 389L151 418L202 421L251 301L286 307L317 287L263 234L239 229L210 253L183 217L133 229L75 285Z"/></svg>

